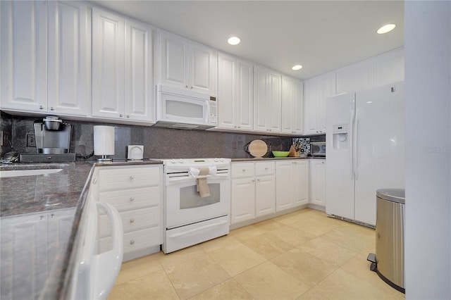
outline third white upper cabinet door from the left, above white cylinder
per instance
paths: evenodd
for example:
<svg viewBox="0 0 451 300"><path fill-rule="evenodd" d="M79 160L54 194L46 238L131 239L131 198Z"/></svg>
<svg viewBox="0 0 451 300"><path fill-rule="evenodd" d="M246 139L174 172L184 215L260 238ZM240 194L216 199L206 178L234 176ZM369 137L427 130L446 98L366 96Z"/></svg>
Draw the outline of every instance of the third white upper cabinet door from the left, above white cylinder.
<svg viewBox="0 0 451 300"><path fill-rule="evenodd" d="M124 22L92 8L92 115L123 118Z"/></svg>

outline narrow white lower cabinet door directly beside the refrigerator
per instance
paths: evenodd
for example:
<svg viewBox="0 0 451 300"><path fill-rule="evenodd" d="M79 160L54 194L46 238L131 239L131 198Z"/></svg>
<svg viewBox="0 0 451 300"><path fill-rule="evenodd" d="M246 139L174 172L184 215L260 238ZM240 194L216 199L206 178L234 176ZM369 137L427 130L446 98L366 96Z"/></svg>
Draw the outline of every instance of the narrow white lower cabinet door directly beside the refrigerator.
<svg viewBox="0 0 451 300"><path fill-rule="evenodd" d="M326 160L310 161L310 202L326 206Z"/></svg>

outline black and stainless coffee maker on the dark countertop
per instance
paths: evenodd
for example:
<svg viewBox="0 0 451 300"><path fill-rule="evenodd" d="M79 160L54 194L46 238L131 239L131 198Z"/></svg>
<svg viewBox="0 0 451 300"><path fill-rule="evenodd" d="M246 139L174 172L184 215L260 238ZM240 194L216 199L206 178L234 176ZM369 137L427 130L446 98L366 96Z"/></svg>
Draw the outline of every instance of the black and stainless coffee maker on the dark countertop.
<svg viewBox="0 0 451 300"><path fill-rule="evenodd" d="M72 126L56 115L35 120L37 154L20 154L22 163L75 161L75 153L69 153Z"/></svg>

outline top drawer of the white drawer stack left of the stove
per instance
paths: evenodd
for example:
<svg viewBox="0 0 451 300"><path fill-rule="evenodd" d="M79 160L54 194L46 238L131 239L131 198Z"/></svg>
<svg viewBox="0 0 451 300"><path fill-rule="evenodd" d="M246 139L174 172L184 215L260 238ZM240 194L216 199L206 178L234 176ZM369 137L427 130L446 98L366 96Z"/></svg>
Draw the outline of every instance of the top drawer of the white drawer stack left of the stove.
<svg viewBox="0 0 451 300"><path fill-rule="evenodd" d="M132 189L160 183L160 168L104 168L99 170L99 189Z"/></svg>

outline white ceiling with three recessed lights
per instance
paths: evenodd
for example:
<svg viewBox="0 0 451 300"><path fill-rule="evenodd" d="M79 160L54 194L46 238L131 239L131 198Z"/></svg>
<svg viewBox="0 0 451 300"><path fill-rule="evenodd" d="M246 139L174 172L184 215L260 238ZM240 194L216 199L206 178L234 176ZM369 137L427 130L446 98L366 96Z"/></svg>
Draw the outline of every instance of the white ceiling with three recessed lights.
<svg viewBox="0 0 451 300"><path fill-rule="evenodd" d="M92 2L304 80L404 45L404 1Z"/></svg>

